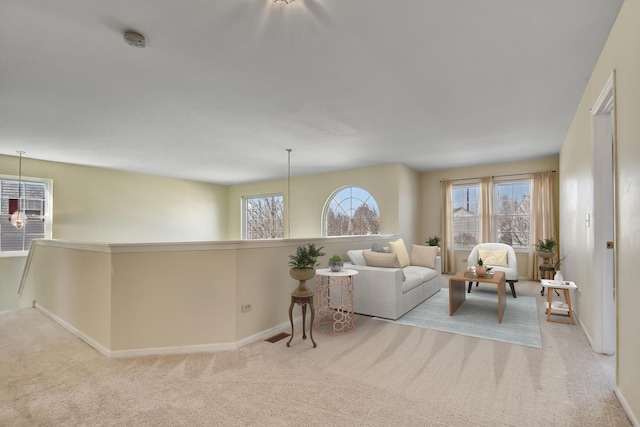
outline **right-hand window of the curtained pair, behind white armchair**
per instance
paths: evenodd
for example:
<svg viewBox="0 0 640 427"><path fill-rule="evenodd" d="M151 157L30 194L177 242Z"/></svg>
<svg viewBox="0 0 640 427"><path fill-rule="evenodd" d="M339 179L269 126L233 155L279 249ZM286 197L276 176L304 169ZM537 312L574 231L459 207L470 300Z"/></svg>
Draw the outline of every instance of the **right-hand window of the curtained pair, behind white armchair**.
<svg viewBox="0 0 640 427"><path fill-rule="evenodd" d="M493 197L495 241L514 249L528 249L530 180L497 182L493 186Z"/></svg>

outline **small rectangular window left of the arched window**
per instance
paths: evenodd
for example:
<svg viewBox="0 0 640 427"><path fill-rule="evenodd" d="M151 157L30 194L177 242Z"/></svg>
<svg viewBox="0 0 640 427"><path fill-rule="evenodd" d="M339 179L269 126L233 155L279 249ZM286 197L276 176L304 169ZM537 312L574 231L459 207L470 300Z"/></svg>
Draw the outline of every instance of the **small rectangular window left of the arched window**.
<svg viewBox="0 0 640 427"><path fill-rule="evenodd" d="M282 194L243 197L243 238L282 239L284 198Z"/></svg>

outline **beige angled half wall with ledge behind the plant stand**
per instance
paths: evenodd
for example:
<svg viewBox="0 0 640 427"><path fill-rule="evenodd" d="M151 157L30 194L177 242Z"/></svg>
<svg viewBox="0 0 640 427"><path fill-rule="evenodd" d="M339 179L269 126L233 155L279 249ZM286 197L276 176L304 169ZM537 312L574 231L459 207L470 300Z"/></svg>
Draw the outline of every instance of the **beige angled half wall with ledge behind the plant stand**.
<svg viewBox="0 0 640 427"><path fill-rule="evenodd" d="M260 242L79 245L43 241L28 262L22 307L37 305L107 355L235 348L289 330L289 254L315 243L325 255L397 235ZM315 289L315 282L309 287ZM242 304L252 310L243 313ZM294 316L300 317L296 309ZM266 336L264 337L266 338Z"/></svg>

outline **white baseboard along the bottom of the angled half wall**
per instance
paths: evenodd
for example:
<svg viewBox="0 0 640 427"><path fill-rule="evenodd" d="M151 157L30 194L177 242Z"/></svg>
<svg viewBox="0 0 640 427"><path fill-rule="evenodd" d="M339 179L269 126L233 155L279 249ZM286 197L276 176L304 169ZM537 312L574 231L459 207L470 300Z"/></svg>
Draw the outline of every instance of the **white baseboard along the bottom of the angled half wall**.
<svg viewBox="0 0 640 427"><path fill-rule="evenodd" d="M131 350L109 350L84 332L70 325L66 321L62 320L55 314L51 313L46 308L41 305L34 303L33 308L65 328L67 331L71 332L73 335L80 338L82 341L89 344L91 347L96 349L102 355L108 358L126 358L126 357L143 357L143 356L168 356L173 354L190 354L190 353L210 353L217 351L229 351L229 350L238 350L245 345L249 345L256 341L265 340L274 334L279 332L288 331L291 328L290 322L283 322L280 325L274 326L267 330L261 331L257 334L251 335L247 338L243 338L240 341L236 342L228 342L228 343L216 343L216 344L197 344L197 345L187 345L187 346L176 346L176 347L155 347L155 348L140 348L140 349L131 349ZM294 325L299 325L302 323L302 316L293 319Z"/></svg>

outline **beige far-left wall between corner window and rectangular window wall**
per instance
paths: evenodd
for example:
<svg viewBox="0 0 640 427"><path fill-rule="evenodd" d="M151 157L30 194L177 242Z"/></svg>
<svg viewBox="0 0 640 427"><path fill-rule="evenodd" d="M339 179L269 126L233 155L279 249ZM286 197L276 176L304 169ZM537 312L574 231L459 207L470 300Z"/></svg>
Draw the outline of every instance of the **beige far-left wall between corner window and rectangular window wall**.
<svg viewBox="0 0 640 427"><path fill-rule="evenodd" d="M0 174L17 157L0 155ZM25 176L53 180L53 238L188 242L226 238L227 187L24 158Z"/></svg>

